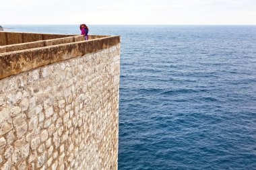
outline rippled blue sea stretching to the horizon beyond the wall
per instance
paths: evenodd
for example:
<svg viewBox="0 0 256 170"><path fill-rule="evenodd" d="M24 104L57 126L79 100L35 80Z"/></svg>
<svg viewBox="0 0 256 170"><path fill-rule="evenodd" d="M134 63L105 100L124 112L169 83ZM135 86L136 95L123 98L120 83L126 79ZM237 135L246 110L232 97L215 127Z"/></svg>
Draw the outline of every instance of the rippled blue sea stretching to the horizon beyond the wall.
<svg viewBox="0 0 256 170"><path fill-rule="evenodd" d="M119 169L256 169L256 26L89 28L121 35Z"/></svg>

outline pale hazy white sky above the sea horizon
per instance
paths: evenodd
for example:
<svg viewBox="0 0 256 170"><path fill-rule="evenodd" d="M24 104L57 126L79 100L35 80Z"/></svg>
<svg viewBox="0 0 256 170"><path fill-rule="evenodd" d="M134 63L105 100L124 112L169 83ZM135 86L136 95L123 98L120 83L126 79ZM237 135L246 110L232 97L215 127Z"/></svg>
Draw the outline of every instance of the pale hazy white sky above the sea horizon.
<svg viewBox="0 0 256 170"><path fill-rule="evenodd" d="M1 24L256 24L256 0L0 0Z"/></svg>

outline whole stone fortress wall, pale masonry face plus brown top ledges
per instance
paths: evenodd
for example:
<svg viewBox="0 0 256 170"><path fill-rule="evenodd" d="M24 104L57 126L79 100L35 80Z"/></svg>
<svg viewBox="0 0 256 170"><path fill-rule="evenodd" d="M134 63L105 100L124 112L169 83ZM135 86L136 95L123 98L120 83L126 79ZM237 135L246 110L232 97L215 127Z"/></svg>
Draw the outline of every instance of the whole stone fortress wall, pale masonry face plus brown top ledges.
<svg viewBox="0 0 256 170"><path fill-rule="evenodd" d="M0 169L117 169L120 36L0 32Z"/></svg>

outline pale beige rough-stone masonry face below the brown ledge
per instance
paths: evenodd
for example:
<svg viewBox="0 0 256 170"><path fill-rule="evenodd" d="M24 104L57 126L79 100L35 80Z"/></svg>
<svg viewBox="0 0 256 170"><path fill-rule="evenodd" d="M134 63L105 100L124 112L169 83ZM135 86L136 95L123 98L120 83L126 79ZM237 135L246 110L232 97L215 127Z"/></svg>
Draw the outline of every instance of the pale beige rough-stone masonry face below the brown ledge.
<svg viewBox="0 0 256 170"><path fill-rule="evenodd" d="M120 44L0 79L1 169L117 169Z"/></svg>

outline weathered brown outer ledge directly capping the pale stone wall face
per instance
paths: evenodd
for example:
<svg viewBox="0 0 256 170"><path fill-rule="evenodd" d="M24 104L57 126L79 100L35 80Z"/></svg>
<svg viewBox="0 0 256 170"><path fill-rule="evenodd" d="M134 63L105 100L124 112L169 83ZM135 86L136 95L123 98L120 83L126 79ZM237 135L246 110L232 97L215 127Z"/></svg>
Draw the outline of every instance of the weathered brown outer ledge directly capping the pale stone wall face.
<svg viewBox="0 0 256 170"><path fill-rule="evenodd" d="M2 53L0 54L0 79L61 60L96 52L119 43L120 36L108 36L96 40Z"/></svg>

